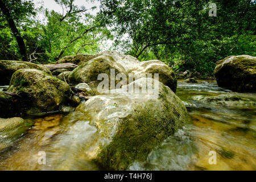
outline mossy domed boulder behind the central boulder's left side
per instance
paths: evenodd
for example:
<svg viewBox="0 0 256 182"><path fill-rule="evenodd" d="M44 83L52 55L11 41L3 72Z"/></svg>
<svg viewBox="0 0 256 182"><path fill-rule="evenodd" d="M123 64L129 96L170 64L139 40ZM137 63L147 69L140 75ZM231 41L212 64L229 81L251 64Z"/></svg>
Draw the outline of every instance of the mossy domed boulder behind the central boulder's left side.
<svg viewBox="0 0 256 182"><path fill-rule="evenodd" d="M74 69L68 76L68 82L69 84L84 82L92 88L93 92L97 93L97 86L101 82L101 80L98 80L98 75L101 73L108 75L110 83L110 69L115 70L115 75L118 73L127 75L122 65L117 63L112 56L102 55ZM115 82L117 83L118 81Z"/></svg>

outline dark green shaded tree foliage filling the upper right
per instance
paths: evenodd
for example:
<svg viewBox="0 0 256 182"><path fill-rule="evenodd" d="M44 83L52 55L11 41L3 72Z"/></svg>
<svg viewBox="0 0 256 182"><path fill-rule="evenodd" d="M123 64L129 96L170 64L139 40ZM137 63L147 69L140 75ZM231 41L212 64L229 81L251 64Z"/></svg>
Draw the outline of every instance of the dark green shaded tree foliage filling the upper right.
<svg viewBox="0 0 256 182"><path fill-rule="evenodd" d="M115 48L175 70L213 74L230 55L255 55L255 1L102 0L98 19L116 32ZM122 37L125 36L125 39Z"/></svg>

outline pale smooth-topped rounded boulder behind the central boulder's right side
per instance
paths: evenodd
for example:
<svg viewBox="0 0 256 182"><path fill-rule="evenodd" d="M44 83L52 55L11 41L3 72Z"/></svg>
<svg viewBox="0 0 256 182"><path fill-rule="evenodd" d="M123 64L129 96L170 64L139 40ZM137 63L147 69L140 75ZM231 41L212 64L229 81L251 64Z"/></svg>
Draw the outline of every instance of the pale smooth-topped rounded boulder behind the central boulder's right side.
<svg viewBox="0 0 256 182"><path fill-rule="evenodd" d="M148 73L152 74L154 77L154 73L159 74L159 81L164 85L169 86L173 92L176 92L177 88L177 80L175 77L175 73L168 65L164 64L159 60L151 60L151 61L143 61L141 63L135 64L133 68L129 69L127 73L133 73L135 79L146 76Z"/></svg>

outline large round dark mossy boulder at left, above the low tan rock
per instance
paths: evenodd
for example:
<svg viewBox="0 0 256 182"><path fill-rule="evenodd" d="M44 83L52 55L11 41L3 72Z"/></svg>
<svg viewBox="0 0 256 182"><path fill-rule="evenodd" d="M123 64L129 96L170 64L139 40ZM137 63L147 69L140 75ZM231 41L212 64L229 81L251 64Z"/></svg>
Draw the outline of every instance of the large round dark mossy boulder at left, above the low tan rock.
<svg viewBox="0 0 256 182"><path fill-rule="evenodd" d="M22 110L27 114L59 110L69 100L69 85L37 69L19 69L11 77L7 92L22 97Z"/></svg>

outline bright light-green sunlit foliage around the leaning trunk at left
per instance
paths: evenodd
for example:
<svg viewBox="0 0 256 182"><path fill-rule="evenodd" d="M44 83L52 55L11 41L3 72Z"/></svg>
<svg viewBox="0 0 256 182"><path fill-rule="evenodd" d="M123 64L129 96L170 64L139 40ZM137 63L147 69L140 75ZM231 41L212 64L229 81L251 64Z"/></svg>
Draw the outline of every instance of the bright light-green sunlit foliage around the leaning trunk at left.
<svg viewBox="0 0 256 182"><path fill-rule="evenodd" d="M34 63L53 62L77 53L98 53L102 41L111 38L108 29L99 27L88 9L74 5L73 0L56 0L67 11L63 14L43 7L34 9L31 1L15 2L5 1L26 43L30 61ZM43 20L39 15L43 15ZM2 14L0 28L0 59L19 60L18 44Z"/></svg>

